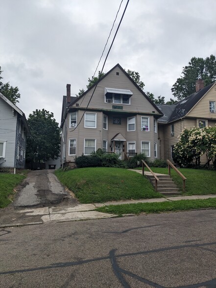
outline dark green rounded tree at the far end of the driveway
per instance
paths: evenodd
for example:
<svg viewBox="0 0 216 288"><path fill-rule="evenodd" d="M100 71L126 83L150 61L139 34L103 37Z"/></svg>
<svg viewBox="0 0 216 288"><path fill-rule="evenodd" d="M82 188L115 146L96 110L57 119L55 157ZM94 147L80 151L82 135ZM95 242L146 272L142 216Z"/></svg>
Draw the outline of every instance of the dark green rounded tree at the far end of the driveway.
<svg viewBox="0 0 216 288"><path fill-rule="evenodd" d="M60 128L53 113L45 109L33 111L27 119L31 136L27 137L26 159L45 162L60 154Z"/></svg>

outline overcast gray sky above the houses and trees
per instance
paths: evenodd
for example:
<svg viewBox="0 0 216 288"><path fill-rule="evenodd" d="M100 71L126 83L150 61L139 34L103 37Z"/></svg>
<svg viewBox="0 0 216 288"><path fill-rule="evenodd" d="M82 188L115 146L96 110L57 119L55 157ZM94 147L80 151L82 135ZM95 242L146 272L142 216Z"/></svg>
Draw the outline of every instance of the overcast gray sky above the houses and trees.
<svg viewBox="0 0 216 288"><path fill-rule="evenodd" d="M120 1L0 0L3 82L19 87L18 107L26 117L45 108L60 121L66 84L72 94L86 88ZM123 0L114 32L125 5ZM119 63L140 73L145 92L168 100L189 60L211 54L216 55L215 0L130 0L104 72Z"/></svg>

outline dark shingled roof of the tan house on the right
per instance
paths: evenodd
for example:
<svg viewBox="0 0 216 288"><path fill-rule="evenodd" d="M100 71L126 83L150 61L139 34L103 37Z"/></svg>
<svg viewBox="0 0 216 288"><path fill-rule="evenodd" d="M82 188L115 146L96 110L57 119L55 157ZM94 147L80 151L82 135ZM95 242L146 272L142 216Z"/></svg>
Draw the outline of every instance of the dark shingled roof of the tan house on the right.
<svg viewBox="0 0 216 288"><path fill-rule="evenodd" d="M204 87L198 92L194 92L192 95L182 99L173 105L161 104L157 105L158 108L163 112L164 116L159 119L160 123L168 123L175 120L179 120L192 110L192 108L202 99L203 96L216 84L213 82L208 86Z"/></svg>

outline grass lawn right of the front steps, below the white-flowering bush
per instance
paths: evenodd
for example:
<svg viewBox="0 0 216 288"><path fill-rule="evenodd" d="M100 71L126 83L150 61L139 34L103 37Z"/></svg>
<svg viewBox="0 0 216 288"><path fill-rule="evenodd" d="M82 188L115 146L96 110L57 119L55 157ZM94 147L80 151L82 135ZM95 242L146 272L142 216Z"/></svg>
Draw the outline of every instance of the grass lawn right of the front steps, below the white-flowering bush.
<svg viewBox="0 0 216 288"><path fill-rule="evenodd" d="M151 168L153 172L168 174L168 168ZM147 171L147 169L145 168ZM179 168L187 178L187 195L216 194L216 171L205 169ZM181 192L183 192L182 178L171 168L171 177Z"/></svg>

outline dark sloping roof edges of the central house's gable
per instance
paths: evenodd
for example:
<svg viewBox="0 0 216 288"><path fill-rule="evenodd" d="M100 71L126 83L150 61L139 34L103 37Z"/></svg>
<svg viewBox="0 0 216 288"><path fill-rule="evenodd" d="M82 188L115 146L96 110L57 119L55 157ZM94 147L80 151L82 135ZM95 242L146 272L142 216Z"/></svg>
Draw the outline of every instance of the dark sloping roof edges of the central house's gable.
<svg viewBox="0 0 216 288"><path fill-rule="evenodd" d="M112 72L116 67L120 68L120 70L128 77L128 79L136 86L136 88L143 94L143 96L152 104L152 106L154 106L154 108L157 110L157 112L159 114L163 114L160 109L154 104L153 101L151 101L151 99L149 99L149 97L143 92L143 90L137 85L137 83L128 75L128 73L120 66L120 64L116 64L116 66L114 66L109 72L107 72L105 75L103 75L100 78L100 81L105 78L110 72ZM100 82L99 81L99 82ZM99 83L98 82L98 83ZM72 104L74 104L76 101L78 101L80 98L82 98L83 96L85 96L90 90L92 90L94 87L96 86L96 83L93 84L88 90L86 90L81 96L79 97L75 97L75 100L69 105L72 106Z"/></svg>

